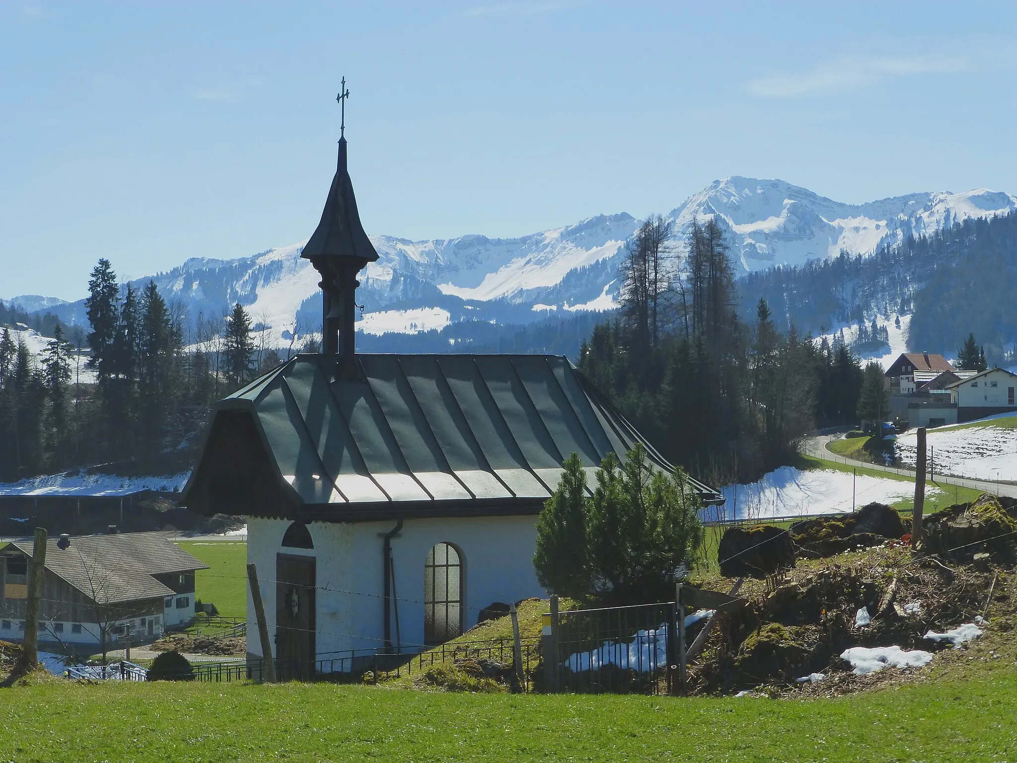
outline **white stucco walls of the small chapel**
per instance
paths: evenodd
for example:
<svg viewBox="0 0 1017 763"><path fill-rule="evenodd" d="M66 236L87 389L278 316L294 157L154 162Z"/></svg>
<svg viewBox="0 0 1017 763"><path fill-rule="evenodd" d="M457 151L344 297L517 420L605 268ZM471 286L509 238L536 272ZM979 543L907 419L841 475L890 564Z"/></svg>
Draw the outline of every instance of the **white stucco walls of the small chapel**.
<svg viewBox="0 0 1017 763"><path fill-rule="evenodd" d="M275 635L276 554L315 556L318 655L383 646L382 535L395 522L308 525L314 549L286 548L281 542L289 523L250 519L247 559L257 565L261 596ZM464 564L465 627L476 625L479 610L493 601L543 596L533 571L536 517L478 517L407 520L392 541L395 594L399 599L399 642L413 648L424 640L424 561L436 543L457 546ZM261 647L248 591L247 650ZM397 640L393 610L392 639ZM273 647L274 649L275 647Z"/></svg>

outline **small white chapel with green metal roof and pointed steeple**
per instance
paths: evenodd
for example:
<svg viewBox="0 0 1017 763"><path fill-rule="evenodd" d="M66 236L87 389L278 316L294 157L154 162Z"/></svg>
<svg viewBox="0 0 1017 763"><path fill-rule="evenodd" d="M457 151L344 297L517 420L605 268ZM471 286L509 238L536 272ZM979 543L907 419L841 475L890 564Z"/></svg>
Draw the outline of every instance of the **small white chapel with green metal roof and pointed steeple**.
<svg viewBox="0 0 1017 763"><path fill-rule="evenodd" d="M321 274L322 353L217 404L183 497L248 517L278 659L416 651L491 603L544 595L536 520L570 454L592 471L642 443L671 469L563 357L355 353L356 277L377 253L345 137L302 255ZM248 613L261 656L250 600Z"/></svg>

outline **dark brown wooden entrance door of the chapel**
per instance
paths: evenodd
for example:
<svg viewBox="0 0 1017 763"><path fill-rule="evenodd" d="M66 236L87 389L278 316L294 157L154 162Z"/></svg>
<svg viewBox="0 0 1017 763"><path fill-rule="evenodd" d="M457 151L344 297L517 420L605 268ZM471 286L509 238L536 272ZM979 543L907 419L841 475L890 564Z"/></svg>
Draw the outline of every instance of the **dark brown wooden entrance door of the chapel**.
<svg viewBox="0 0 1017 763"><path fill-rule="evenodd" d="M276 559L276 662L281 681L314 674L314 557Z"/></svg>

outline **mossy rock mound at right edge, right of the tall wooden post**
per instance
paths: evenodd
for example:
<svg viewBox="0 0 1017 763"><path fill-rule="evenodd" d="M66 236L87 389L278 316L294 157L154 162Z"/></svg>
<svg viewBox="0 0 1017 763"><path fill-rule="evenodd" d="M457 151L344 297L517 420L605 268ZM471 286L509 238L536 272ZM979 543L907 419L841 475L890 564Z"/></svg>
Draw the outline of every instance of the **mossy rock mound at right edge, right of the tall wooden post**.
<svg viewBox="0 0 1017 763"><path fill-rule="evenodd" d="M983 493L970 504L957 504L924 518L921 548L955 562L970 562L975 553L989 553L995 562L1013 564L1017 559L1017 522L1014 503L1010 512L995 495Z"/></svg>

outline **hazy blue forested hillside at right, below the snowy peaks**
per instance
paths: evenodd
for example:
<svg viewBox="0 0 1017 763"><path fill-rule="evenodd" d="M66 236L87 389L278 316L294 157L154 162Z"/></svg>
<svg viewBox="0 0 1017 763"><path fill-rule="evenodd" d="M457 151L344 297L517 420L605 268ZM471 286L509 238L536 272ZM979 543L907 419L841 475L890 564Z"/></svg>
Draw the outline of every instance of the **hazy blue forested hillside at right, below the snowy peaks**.
<svg viewBox="0 0 1017 763"><path fill-rule="evenodd" d="M738 281L738 311L762 298L775 326L825 333L838 324L886 322L912 313L908 348L954 354L968 334L991 363L1015 361L1017 215L969 218L933 236L908 237L870 255L773 268Z"/></svg>

